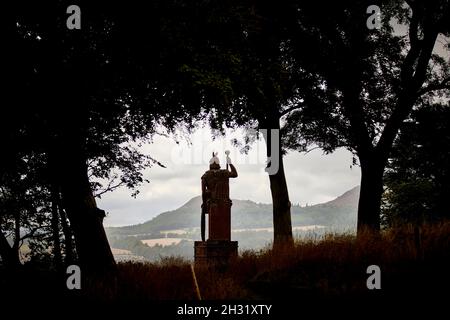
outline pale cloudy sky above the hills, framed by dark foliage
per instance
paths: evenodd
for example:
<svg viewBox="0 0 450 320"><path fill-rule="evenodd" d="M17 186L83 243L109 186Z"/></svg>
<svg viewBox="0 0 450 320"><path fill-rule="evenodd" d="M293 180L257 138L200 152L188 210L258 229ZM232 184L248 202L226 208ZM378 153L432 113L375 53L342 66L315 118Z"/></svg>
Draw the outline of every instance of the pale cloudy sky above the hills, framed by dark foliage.
<svg viewBox="0 0 450 320"><path fill-rule="evenodd" d="M145 178L150 183L140 187L136 199L126 188L103 195L98 205L108 212L105 225L142 223L200 195L200 177L208 169L212 151L219 152L221 164L225 163L224 151L231 152L230 158L239 174L237 179L230 181L232 199L270 203L269 178L264 172L264 141L255 143L248 154L241 154L230 143L233 137L242 137L242 133L227 132L226 138L212 141L209 129L201 129L191 136L189 144L156 137L152 144L143 147L143 152L167 168L154 166L146 170ZM292 203L305 205L329 201L359 184L360 169L351 167L352 156L344 149L331 155L323 155L320 150L308 154L291 152L284 161Z"/></svg>

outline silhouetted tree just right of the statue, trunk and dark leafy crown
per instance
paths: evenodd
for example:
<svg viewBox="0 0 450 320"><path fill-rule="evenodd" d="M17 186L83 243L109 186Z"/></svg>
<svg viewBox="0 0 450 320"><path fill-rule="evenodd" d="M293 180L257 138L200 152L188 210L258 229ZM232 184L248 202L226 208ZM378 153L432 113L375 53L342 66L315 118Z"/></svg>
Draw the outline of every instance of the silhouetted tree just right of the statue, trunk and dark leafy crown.
<svg viewBox="0 0 450 320"><path fill-rule="evenodd" d="M285 34L280 22L286 9L242 1L228 5L207 3L203 10L211 12L208 19L199 25L188 23L201 30L197 37L200 45L194 52L195 59L184 67L195 89L208 102L205 110L212 129L264 129L258 135L247 136L243 149L248 149L248 144L262 133L267 149L275 247L293 240L283 165L285 150L278 132L280 119L298 97L293 81L297 71L287 63L291 58L284 48ZM273 136L272 131L276 132Z"/></svg>

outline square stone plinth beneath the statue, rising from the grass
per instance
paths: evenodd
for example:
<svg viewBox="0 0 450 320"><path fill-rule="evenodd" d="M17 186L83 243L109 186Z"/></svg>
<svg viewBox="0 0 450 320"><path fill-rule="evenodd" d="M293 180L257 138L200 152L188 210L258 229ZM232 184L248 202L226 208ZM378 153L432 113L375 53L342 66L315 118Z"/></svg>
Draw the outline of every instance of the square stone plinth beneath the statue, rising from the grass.
<svg viewBox="0 0 450 320"><path fill-rule="evenodd" d="M195 266L226 266L238 256L238 242L229 240L195 241Z"/></svg>

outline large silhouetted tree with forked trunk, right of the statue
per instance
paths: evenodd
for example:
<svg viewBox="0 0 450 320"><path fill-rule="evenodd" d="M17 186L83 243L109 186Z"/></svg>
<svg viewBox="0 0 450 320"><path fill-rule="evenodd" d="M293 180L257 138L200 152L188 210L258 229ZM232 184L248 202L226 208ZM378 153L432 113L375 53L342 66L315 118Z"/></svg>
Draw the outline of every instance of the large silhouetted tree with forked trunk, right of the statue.
<svg viewBox="0 0 450 320"><path fill-rule="evenodd" d="M373 4L382 8L380 30L366 27ZM315 2L292 10L295 64L317 86L304 90L299 110L287 116L285 143L295 150L314 143L351 150L362 174L358 230L379 230L383 172L398 130L414 106L449 95L450 62L433 51L439 34L449 36L449 3ZM407 27L407 36L391 19Z"/></svg>

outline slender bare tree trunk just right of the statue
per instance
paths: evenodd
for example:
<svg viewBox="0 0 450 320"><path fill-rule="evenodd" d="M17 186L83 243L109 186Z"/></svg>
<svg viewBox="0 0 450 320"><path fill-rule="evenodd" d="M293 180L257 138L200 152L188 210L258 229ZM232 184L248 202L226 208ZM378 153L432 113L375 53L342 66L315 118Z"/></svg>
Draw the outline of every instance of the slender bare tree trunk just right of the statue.
<svg viewBox="0 0 450 320"><path fill-rule="evenodd" d="M274 248L284 245L292 245L291 202L284 174L283 156L281 153L281 141L279 135L279 123L273 124L273 133L263 132L266 140L267 157L270 159L266 171L269 173L270 192L273 205L273 233Z"/></svg>

